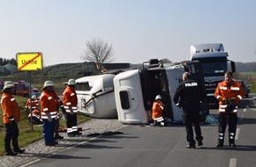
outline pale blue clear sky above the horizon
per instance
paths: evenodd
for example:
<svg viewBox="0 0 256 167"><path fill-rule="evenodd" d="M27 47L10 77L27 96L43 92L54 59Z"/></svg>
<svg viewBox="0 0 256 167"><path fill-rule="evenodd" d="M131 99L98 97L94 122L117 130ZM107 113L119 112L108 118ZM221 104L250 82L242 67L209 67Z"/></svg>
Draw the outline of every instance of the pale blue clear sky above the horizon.
<svg viewBox="0 0 256 167"><path fill-rule="evenodd" d="M222 43L229 59L256 62L256 1L0 0L0 57L41 52L44 66L83 62L101 38L115 62L190 59L190 46Z"/></svg>

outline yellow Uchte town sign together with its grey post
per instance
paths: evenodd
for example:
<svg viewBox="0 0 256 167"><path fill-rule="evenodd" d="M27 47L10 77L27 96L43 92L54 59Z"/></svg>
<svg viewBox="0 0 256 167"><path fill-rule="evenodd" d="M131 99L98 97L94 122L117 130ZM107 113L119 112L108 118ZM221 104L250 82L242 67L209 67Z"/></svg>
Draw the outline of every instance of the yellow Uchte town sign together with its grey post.
<svg viewBox="0 0 256 167"><path fill-rule="evenodd" d="M16 54L16 62L19 71L28 71L29 74L30 125L31 130L33 130L31 71L42 69L42 54L41 52L18 53Z"/></svg>

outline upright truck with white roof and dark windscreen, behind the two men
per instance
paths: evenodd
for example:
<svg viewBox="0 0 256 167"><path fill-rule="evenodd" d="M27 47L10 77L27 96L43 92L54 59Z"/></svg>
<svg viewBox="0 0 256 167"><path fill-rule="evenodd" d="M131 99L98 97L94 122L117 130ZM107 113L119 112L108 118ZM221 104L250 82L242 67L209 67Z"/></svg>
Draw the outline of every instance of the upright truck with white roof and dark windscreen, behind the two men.
<svg viewBox="0 0 256 167"><path fill-rule="evenodd" d="M191 61L198 61L203 70L208 105L217 105L214 93L218 83L224 80L226 71L236 72L235 62L228 59L222 43L192 45Z"/></svg>

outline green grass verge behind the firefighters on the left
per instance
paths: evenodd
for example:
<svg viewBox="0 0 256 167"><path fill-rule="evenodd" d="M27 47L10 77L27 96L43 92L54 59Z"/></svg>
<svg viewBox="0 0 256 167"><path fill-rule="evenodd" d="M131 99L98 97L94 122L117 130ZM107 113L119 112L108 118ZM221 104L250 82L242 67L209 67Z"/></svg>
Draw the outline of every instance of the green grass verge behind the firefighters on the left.
<svg viewBox="0 0 256 167"><path fill-rule="evenodd" d="M2 94L0 94L2 97ZM21 120L19 121L19 147L23 148L27 146L30 143L33 143L35 141L41 140L42 139L42 128L41 125L34 125L33 130L32 127L30 126L30 121L27 118L27 115L29 112L25 111L25 104L26 104L26 99L23 97L17 97L15 96L16 101L19 104L19 109L20 109L20 118ZM61 114L61 112L60 112ZM60 115L61 118L62 115ZM0 107L0 156L4 155L4 123L3 123L3 111L2 108ZM78 114L78 124L85 122L89 120L90 118L83 115L83 114ZM60 127L66 127L65 126L66 122L65 120L60 120Z"/></svg>

